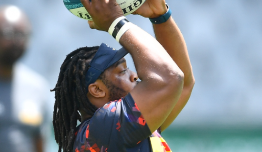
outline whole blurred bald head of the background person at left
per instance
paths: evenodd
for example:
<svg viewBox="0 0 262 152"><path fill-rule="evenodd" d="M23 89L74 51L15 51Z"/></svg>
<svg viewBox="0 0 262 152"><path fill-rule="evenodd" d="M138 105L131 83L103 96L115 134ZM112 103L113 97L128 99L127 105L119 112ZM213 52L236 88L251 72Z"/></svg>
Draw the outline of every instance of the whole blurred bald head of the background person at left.
<svg viewBox="0 0 262 152"><path fill-rule="evenodd" d="M31 24L16 6L0 7L0 77L10 79L14 63L24 54Z"/></svg>

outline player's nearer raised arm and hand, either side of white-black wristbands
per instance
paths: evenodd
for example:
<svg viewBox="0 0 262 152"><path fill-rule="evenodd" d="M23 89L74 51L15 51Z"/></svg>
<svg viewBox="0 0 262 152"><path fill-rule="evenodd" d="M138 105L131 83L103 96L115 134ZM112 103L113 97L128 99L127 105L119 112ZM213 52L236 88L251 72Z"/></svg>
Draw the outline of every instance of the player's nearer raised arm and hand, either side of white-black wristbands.
<svg viewBox="0 0 262 152"><path fill-rule="evenodd" d="M123 16L116 0L82 0L82 3L91 14L95 28L103 31L108 31L111 23ZM130 52L142 80L131 95L153 132L165 122L178 101L184 74L165 48L137 26L127 30L119 43Z"/></svg>

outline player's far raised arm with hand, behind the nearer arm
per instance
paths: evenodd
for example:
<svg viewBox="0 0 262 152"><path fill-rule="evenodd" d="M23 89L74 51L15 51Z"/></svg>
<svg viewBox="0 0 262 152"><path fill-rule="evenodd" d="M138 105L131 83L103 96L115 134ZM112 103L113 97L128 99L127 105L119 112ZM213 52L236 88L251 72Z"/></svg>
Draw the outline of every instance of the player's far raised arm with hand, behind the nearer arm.
<svg viewBox="0 0 262 152"><path fill-rule="evenodd" d="M157 18L166 12L165 0L147 0L143 4L143 7L137 10L136 14L140 14L146 18ZM173 18L170 17L167 22L153 24L153 28L157 41L167 50L167 53L183 71L185 76L182 94L165 122L161 125L161 130L163 131L173 122L187 104L195 81L185 40Z"/></svg>

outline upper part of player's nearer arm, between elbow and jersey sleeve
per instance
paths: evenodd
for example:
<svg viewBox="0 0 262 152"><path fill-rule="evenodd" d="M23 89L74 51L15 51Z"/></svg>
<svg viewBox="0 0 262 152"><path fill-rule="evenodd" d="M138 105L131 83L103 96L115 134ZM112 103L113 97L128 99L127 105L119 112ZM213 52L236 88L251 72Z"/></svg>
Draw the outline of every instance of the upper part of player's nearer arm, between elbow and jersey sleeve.
<svg viewBox="0 0 262 152"><path fill-rule="evenodd" d="M139 83L132 91L132 97L137 103L151 132L157 130L167 119L175 103L178 101L182 89L173 87L170 94L169 87L154 87L150 82ZM156 82L154 82L156 83Z"/></svg>

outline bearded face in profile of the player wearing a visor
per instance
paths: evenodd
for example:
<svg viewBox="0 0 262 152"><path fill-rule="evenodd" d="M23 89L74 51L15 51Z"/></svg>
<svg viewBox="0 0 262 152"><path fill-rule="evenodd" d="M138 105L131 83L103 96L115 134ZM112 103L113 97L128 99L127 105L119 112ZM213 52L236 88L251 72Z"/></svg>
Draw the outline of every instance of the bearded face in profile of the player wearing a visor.
<svg viewBox="0 0 262 152"><path fill-rule="evenodd" d="M109 91L110 101L118 100L130 92L137 84L137 73L129 70L124 58L105 70L103 80Z"/></svg>

